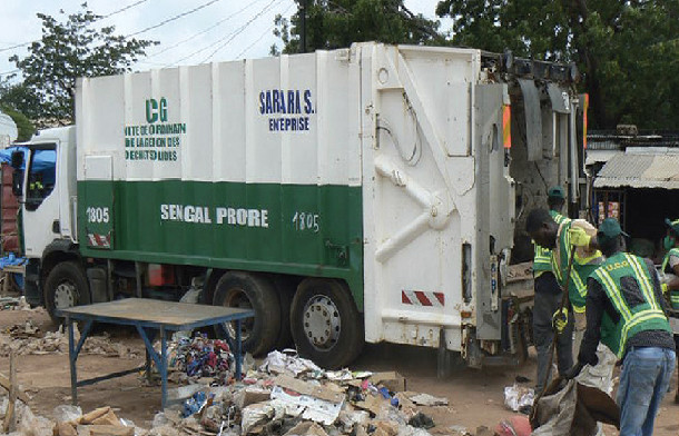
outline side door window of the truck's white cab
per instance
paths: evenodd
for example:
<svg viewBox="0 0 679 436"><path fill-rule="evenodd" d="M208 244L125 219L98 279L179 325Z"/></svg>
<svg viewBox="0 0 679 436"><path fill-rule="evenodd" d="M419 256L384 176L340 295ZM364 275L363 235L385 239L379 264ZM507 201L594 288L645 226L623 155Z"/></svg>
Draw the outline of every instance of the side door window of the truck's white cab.
<svg viewBox="0 0 679 436"><path fill-rule="evenodd" d="M57 146L40 145L31 148L26 187L26 209L36 210L52 194L57 176Z"/></svg>

